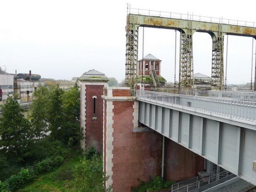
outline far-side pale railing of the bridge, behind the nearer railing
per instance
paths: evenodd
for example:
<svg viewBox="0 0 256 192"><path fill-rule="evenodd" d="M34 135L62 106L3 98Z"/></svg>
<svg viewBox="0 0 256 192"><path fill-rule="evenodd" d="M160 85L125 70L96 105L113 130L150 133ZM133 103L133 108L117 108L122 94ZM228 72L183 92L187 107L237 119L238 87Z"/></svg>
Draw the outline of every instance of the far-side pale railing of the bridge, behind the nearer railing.
<svg viewBox="0 0 256 192"><path fill-rule="evenodd" d="M196 90L196 89L174 89L174 88L154 88L152 89L152 91L256 102L256 91L231 91L231 90L218 91L218 90Z"/></svg>

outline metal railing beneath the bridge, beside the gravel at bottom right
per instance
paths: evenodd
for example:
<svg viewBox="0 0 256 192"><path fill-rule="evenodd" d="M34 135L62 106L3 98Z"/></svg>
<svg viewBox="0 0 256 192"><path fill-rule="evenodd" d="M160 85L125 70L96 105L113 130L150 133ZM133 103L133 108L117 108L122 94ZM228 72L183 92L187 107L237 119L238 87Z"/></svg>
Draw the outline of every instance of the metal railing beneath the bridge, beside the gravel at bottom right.
<svg viewBox="0 0 256 192"><path fill-rule="evenodd" d="M192 192L192 191L199 192L199 191L203 191L208 188L211 188L213 186L216 186L234 177L236 177L236 175L232 174L229 171L224 171L222 173L210 176L208 178L198 180L191 184L187 184L187 185L180 185L180 183L174 184L172 185L172 189L170 190L170 192Z"/></svg>

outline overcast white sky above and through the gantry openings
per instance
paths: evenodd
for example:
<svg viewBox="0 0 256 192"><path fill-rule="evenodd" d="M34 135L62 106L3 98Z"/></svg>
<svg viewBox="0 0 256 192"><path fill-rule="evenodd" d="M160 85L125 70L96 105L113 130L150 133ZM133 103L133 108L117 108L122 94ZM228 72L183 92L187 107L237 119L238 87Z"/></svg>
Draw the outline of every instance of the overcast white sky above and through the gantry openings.
<svg viewBox="0 0 256 192"><path fill-rule="evenodd" d="M45 78L68 80L94 68L121 81L125 78L126 3L134 8L256 22L255 0L0 0L0 66L10 73L32 70ZM144 34L144 55L161 59L162 76L173 81L174 31L145 28ZM252 38L229 36L228 40L228 83L250 82ZM195 33L194 73L211 75L211 50L210 36ZM177 76L178 57L179 49Z"/></svg>

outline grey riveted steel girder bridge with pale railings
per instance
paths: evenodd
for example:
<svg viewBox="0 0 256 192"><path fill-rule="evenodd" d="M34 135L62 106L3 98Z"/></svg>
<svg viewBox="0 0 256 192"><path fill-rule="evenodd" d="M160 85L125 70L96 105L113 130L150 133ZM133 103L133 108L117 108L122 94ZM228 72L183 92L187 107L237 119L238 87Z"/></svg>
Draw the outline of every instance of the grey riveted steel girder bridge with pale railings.
<svg viewBox="0 0 256 192"><path fill-rule="evenodd" d="M256 92L136 90L139 122L256 185Z"/></svg>

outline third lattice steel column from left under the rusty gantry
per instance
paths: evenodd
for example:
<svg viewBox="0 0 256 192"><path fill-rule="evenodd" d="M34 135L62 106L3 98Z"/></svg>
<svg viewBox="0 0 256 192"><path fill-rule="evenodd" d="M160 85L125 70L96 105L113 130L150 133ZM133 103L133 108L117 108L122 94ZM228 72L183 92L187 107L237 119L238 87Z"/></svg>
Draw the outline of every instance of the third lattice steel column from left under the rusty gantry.
<svg viewBox="0 0 256 192"><path fill-rule="evenodd" d="M224 87L224 35L222 25L219 24L219 32L212 39L212 90L222 90Z"/></svg>

